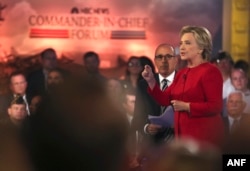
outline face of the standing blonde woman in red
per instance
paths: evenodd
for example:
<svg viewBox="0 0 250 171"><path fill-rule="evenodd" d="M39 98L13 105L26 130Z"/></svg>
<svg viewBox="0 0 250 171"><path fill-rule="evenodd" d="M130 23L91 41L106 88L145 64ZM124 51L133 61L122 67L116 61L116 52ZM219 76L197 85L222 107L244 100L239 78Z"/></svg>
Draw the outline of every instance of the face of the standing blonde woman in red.
<svg viewBox="0 0 250 171"><path fill-rule="evenodd" d="M185 33L181 37L180 56L182 60L192 60L201 56L202 49L197 44L193 33Z"/></svg>

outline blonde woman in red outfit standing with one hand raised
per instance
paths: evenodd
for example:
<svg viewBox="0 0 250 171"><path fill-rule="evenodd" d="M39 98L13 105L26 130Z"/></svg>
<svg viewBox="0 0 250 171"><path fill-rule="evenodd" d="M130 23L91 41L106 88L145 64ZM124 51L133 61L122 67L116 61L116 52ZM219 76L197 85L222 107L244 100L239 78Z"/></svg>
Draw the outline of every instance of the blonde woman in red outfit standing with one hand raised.
<svg viewBox="0 0 250 171"><path fill-rule="evenodd" d="M146 66L142 75L149 85L148 92L159 104L173 106L176 138L188 137L221 147L223 79L218 68L208 62L211 35L206 28L197 26L184 26L180 35L180 55L187 60L187 67L178 71L174 82L162 91Z"/></svg>

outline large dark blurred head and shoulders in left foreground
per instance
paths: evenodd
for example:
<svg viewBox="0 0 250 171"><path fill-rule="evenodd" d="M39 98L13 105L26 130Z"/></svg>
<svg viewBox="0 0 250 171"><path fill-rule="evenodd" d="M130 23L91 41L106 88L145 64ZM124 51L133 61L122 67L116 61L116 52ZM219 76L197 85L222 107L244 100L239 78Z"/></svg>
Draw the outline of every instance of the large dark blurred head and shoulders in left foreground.
<svg viewBox="0 0 250 171"><path fill-rule="evenodd" d="M69 80L45 97L24 130L35 170L126 170L128 124L108 99L93 79Z"/></svg>

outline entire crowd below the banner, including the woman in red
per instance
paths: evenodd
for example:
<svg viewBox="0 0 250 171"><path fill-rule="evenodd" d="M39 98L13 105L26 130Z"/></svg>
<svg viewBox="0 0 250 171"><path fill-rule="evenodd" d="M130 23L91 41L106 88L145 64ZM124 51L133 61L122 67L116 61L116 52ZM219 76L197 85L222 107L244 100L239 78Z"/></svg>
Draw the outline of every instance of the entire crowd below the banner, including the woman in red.
<svg viewBox="0 0 250 171"><path fill-rule="evenodd" d="M184 26L179 49L129 57L122 78L103 75L94 51L78 74L52 48L32 71L8 68L0 170L219 171L222 154L250 154L248 61L211 56L204 27Z"/></svg>

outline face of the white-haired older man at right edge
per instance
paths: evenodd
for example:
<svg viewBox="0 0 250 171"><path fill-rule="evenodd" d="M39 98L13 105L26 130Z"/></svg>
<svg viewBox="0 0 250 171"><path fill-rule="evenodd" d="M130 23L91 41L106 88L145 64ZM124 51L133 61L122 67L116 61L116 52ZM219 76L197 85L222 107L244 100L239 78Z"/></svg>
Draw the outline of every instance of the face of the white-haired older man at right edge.
<svg viewBox="0 0 250 171"><path fill-rule="evenodd" d="M233 93L228 96L227 111L229 116L233 118L239 117L245 107L246 103L243 101L241 93Z"/></svg>

